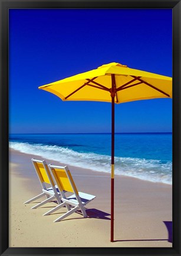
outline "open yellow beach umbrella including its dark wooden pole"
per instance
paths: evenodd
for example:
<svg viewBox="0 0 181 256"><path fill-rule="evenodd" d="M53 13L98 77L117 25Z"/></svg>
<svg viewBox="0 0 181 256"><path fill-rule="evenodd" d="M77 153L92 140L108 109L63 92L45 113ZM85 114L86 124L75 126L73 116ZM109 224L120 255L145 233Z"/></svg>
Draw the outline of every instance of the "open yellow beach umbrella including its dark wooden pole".
<svg viewBox="0 0 181 256"><path fill-rule="evenodd" d="M111 242L114 241L114 103L172 98L172 77L162 76L120 63L109 63L39 89L54 93L62 101L111 102Z"/></svg>

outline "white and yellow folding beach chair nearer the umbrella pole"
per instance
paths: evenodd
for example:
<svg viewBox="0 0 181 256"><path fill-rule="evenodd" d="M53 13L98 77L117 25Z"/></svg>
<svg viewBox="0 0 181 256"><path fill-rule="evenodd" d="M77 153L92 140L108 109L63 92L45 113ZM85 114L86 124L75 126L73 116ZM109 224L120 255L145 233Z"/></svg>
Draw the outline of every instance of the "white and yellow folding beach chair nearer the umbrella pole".
<svg viewBox="0 0 181 256"><path fill-rule="evenodd" d="M83 192L78 192L73 177L71 176L70 170L68 170L67 166L61 167L49 164L48 167L50 168L52 177L54 178L54 181L57 184L58 189L60 190L62 203L56 206L54 209L49 210L44 215L49 215L50 213L55 212L61 207L70 205L71 209L68 210L68 212L64 213L62 216L60 216L58 219L55 219L54 222L61 221L62 219L66 218L77 210L81 210L84 218L86 218L87 213L85 211L85 205L91 202L91 200L93 200L96 196L89 195ZM71 192L72 195L65 196L64 190L67 192Z"/></svg>

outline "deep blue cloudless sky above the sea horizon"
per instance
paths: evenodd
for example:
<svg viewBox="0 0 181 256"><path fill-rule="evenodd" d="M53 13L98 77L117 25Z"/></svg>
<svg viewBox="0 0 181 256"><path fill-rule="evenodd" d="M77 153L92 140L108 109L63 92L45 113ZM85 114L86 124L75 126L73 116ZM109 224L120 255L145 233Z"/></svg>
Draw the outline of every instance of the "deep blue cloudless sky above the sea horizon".
<svg viewBox="0 0 181 256"><path fill-rule="evenodd" d="M111 132L111 104L38 86L119 62L172 76L172 9L10 9L9 132ZM116 132L172 132L172 99L115 106Z"/></svg>

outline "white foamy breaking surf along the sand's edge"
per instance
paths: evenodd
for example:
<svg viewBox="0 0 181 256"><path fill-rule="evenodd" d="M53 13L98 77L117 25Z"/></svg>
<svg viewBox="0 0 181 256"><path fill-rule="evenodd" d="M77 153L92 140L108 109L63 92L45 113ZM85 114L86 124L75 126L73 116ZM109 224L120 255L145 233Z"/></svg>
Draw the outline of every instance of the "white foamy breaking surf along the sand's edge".
<svg viewBox="0 0 181 256"><path fill-rule="evenodd" d="M57 145L29 144L27 142L9 142L9 147L22 153L39 155L67 165L110 173L111 157L109 155L79 153ZM172 184L172 161L163 163L160 160L131 157L115 157L114 161L117 175Z"/></svg>

